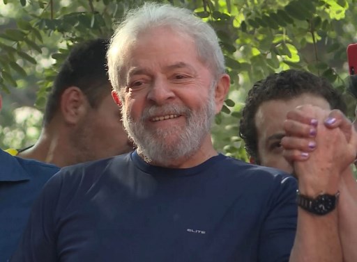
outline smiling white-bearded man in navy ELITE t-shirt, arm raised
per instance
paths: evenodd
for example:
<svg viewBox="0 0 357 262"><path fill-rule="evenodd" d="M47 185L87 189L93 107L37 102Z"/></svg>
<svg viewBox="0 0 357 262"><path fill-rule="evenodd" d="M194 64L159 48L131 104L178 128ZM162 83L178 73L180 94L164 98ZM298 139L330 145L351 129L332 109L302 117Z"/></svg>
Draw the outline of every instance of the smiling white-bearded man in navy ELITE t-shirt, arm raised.
<svg viewBox="0 0 357 262"><path fill-rule="evenodd" d="M107 58L137 150L63 168L12 261L340 261L334 217L298 211L294 177L213 148L229 76L211 26L146 3L127 13ZM327 230L305 230L314 226Z"/></svg>

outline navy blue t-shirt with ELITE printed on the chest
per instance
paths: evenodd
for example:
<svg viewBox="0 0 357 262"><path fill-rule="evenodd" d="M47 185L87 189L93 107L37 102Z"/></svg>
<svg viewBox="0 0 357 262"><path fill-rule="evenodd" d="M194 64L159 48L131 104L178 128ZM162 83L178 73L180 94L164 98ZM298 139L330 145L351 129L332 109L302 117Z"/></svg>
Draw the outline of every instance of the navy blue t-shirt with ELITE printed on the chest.
<svg viewBox="0 0 357 262"><path fill-rule="evenodd" d="M293 177L222 154L187 169L136 152L65 167L11 261L288 261L295 196Z"/></svg>

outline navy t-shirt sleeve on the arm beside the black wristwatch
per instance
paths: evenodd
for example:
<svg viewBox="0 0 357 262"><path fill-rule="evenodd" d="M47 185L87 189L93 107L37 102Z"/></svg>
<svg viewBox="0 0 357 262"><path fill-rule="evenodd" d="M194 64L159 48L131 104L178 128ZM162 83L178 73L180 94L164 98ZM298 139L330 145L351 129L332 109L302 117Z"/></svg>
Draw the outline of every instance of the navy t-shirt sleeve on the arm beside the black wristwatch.
<svg viewBox="0 0 357 262"><path fill-rule="evenodd" d="M270 211L261 229L259 262L289 261L296 234L296 188L296 179L286 177L269 199Z"/></svg>

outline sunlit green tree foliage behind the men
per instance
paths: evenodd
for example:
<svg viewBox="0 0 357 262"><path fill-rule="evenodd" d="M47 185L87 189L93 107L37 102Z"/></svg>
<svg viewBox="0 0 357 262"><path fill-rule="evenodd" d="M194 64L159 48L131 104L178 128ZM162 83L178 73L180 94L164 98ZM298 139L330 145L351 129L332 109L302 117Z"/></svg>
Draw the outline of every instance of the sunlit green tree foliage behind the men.
<svg viewBox="0 0 357 262"><path fill-rule="evenodd" d="M139 0L2 0L0 2L0 147L31 145L39 135L47 92L76 42L112 35ZM245 95L282 69L306 69L346 93L347 45L357 42L357 0L172 0L218 32L231 90L215 119L213 141L246 159L238 138ZM89 65L83 65L89 66ZM346 94L351 116L354 99ZM25 107L22 107L25 106ZM37 108L38 110L34 109Z"/></svg>

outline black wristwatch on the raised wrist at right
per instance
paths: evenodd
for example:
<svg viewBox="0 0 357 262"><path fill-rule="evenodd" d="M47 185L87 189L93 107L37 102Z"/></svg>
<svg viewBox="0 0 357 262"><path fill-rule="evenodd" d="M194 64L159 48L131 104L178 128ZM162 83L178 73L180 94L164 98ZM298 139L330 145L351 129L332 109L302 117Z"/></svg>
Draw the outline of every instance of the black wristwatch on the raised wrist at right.
<svg viewBox="0 0 357 262"><path fill-rule="evenodd" d="M335 195L328 195L321 193L315 198L301 195L299 190L296 190L296 203L305 211L315 215L326 215L333 211L338 202L340 192L337 191Z"/></svg>

